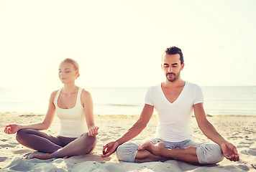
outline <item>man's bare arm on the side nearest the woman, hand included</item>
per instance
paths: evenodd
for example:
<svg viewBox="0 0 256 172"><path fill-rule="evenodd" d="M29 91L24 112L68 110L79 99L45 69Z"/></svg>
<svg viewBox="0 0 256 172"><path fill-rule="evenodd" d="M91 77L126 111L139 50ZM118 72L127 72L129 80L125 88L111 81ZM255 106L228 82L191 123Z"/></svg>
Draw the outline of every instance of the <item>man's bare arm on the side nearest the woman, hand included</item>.
<svg viewBox="0 0 256 172"><path fill-rule="evenodd" d="M119 145L122 145L123 143L139 135L142 132L142 130L146 128L147 123L150 121L150 118L152 117L153 111L154 106L145 104L142 113L140 114L139 120L137 120L137 122L134 123L134 125L132 125L132 128L129 128L129 130L127 130L127 133L124 133L124 135L122 135L121 138L106 144L103 148L102 157L105 158L110 156L112 153L116 151L116 148Z"/></svg>

